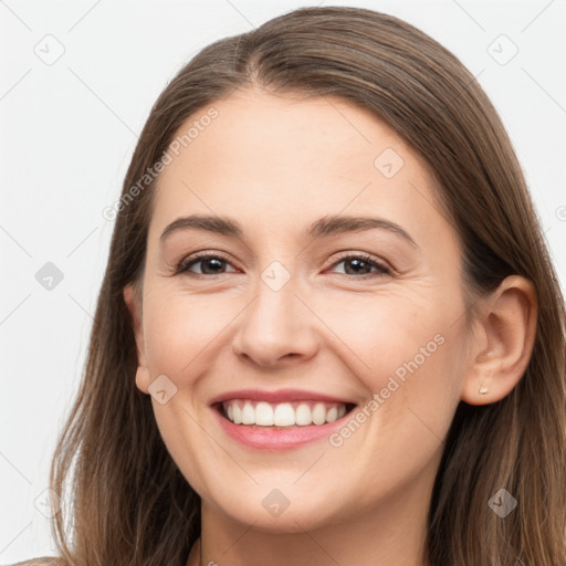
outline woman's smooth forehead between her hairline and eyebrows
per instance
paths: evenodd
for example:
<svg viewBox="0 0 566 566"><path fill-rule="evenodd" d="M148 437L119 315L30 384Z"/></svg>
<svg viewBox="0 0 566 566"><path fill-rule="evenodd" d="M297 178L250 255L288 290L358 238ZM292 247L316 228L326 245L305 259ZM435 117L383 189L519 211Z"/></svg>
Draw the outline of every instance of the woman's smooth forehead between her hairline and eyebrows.
<svg viewBox="0 0 566 566"><path fill-rule="evenodd" d="M216 117L205 119L210 108ZM154 230L181 211L297 231L340 211L399 223L439 216L420 156L369 111L336 97L239 92L195 113L176 139L158 179Z"/></svg>

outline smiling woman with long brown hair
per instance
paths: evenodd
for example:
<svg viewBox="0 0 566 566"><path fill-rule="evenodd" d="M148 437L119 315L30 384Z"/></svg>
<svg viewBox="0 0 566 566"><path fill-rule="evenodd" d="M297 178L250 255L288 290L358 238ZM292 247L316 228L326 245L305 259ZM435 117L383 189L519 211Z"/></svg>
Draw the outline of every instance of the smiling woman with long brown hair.
<svg viewBox="0 0 566 566"><path fill-rule="evenodd" d="M54 564L566 564L564 298L446 49L353 8L218 41L113 210Z"/></svg>

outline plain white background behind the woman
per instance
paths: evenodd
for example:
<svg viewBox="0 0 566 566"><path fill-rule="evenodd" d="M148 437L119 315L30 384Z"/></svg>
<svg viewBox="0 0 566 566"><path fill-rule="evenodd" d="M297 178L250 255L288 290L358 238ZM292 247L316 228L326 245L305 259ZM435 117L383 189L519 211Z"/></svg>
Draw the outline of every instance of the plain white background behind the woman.
<svg viewBox="0 0 566 566"><path fill-rule="evenodd" d="M82 375L113 229L102 210L119 197L150 106L198 50L301 6L315 4L0 0L0 564L54 554L35 502ZM523 165L564 289L566 2L340 6L415 24L479 75ZM488 51L501 34L518 48L505 65ZM57 49L53 64L35 53ZM35 280L46 262L63 273L51 291Z"/></svg>

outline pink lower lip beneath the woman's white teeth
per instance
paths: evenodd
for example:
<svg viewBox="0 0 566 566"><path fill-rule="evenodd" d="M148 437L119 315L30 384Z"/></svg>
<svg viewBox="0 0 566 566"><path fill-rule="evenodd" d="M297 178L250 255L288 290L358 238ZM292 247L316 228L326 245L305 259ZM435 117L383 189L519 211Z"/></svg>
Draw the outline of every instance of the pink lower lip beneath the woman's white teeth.
<svg viewBox="0 0 566 566"><path fill-rule="evenodd" d="M344 417L325 424L308 424L306 427L258 427L255 424L234 424L222 417L220 411L212 407L212 411L220 420L224 432L237 442L258 450L291 450L323 438L328 438L333 431L344 424ZM350 411L352 412L352 411Z"/></svg>

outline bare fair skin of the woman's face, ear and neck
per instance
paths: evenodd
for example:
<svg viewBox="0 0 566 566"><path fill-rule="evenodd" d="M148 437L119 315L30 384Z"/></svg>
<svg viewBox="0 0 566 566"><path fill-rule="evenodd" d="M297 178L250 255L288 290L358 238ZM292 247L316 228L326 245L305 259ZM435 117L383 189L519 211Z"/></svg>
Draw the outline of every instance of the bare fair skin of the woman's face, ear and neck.
<svg viewBox="0 0 566 566"><path fill-rule="evenodd" d="M458 233L427 164L367 111L260 90L213 106L218 118L160 175L142 290L124 290L137 387L149 395L160 375L177 387L164 405L151 399L171 457L202 499L201 546L188 565L421 566L443 439L460 400L495 402L521 379L533 286L507 277L467 326ZM391 178L374 166L388 147L403 159ZM166 226L193 213L234 219L244 238L188 229L160 244ZM302 239L327 214L385 218L417 245L384 229ZM228 263L212 275L201 271L210 262L195 264L201 279L175 274L200 251ZM394 272L358 274L340 252ZM261 279L273 261L291 275L279 291ZM437 335L443 344L339 447L325 438L283 452L247 448L208 406L228 390L296 388L364 407ZM279 516L262 505L273 489L290 501Z"/></svg>

